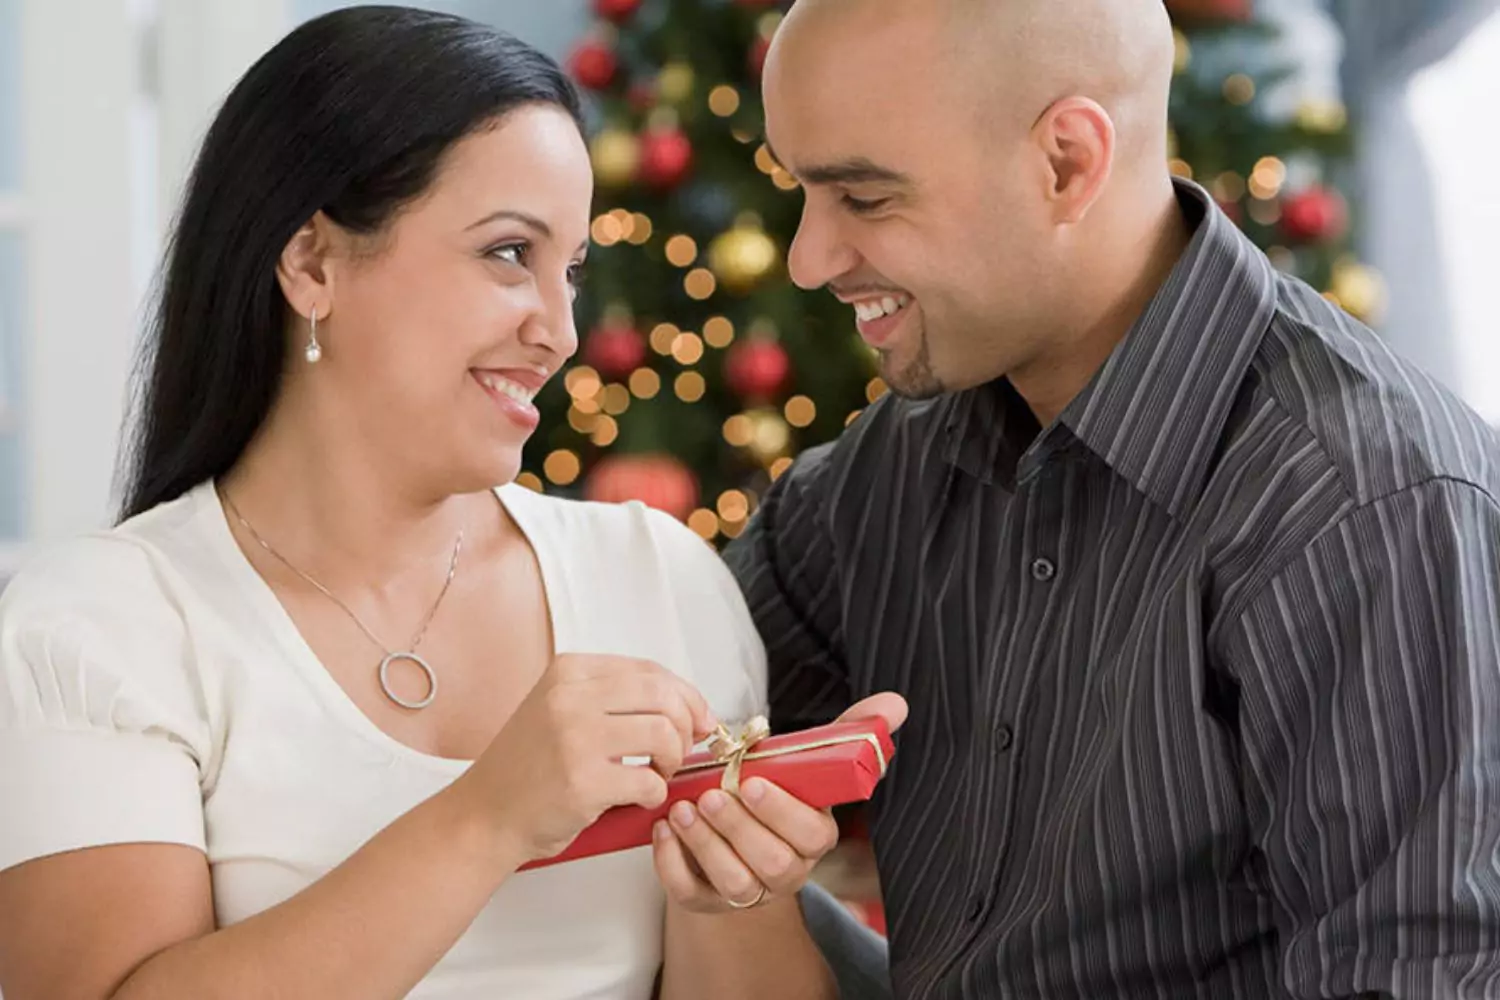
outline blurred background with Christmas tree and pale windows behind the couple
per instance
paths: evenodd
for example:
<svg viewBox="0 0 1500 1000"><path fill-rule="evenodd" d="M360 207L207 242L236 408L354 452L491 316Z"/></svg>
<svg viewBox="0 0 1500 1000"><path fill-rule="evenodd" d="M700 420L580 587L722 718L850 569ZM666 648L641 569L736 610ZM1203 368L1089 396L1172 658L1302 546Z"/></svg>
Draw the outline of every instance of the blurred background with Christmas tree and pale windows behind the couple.
<svg viewBox="0 0 1500 1000"><path fill-rule="evenodd" d="M0 0L0 586L34 546L110 520L136 336L196 142L260 52L334 6ZM788 4L420 6L514 31L590 96L584 343L538 400L524 480L640 498L724 543L800 450L885 391L850 310L784 280L801 199L762 145L758 76ZM1172 169L1500 421L1500 0L1167 7ZM825 876L879 925L858 843Z"/></svg>

